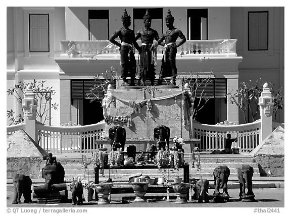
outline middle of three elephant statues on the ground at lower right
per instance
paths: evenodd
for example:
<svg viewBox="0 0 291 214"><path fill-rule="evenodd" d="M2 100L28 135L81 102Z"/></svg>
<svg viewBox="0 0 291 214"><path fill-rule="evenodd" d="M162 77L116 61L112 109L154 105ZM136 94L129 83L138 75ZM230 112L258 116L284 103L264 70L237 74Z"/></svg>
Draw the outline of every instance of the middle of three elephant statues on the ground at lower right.
<svg viewBox="0 0 291 214"><path fill-rule="evenodd" d="M230 175L230 171L227 166L219 166L214 169L213 171L214 185L215 185L215 190L213 193L214 196L220 195L219 188L223 188L223 192L220 196L229 197L229 194L227 192L227 181L228 181L229 175Z"/></svg>

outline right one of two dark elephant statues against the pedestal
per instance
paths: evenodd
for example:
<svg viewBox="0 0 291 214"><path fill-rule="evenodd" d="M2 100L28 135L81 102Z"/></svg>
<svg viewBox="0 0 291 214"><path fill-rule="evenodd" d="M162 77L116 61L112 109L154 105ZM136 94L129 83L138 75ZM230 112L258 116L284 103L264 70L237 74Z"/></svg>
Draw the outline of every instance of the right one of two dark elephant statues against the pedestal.
<svg viewBox="0 0 291 214"><path fill-rule="evenodd" d="M154 140L158 139L157 142L157 149L161 150L161 147L163 147L163 150L169 149L169 143L170 143L170 128L167 126L157 126L154 128Z"/></svg>

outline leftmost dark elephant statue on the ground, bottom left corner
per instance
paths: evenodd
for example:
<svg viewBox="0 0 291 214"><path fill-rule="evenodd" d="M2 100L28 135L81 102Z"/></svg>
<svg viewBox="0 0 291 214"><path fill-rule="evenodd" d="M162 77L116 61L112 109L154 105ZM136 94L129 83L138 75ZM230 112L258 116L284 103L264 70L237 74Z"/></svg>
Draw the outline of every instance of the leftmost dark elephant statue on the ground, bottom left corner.
<svg viewBox="0 0 291 214"><path fill-rule="evenodd" d="M16 174L13 178L14 188L14 200L13 204L20 203L21 196L23 194L24 203L30 203L31 200L31 184L32 181L29 176L23 174Z"/></svg>

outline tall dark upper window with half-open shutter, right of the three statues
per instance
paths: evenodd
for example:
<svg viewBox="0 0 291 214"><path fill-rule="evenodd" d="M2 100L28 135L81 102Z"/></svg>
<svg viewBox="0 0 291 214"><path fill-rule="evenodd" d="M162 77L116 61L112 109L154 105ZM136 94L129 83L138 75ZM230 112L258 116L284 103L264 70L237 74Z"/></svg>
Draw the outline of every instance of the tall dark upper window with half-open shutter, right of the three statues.
<svg viewBox="0 0 291 214"><path fill-rule="evenodd" d="M208 9L188 9L187 28L189 40L208 39Z"/></svg>

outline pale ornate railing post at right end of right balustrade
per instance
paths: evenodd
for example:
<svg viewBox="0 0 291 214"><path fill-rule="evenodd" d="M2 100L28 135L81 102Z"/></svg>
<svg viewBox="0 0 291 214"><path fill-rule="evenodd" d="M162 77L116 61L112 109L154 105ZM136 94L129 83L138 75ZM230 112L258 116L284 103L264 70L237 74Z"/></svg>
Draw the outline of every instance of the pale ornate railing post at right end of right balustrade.
<svg viewBox="0 0 291 214"><path fill-rule="evenodd" d="M260 143L272 132L272 114L273 105L272 102L272 92L268 88L268 83L263 85L263 91L259 98L260 104L260 115L261 115L261 133L260 133Z"/></svg>

